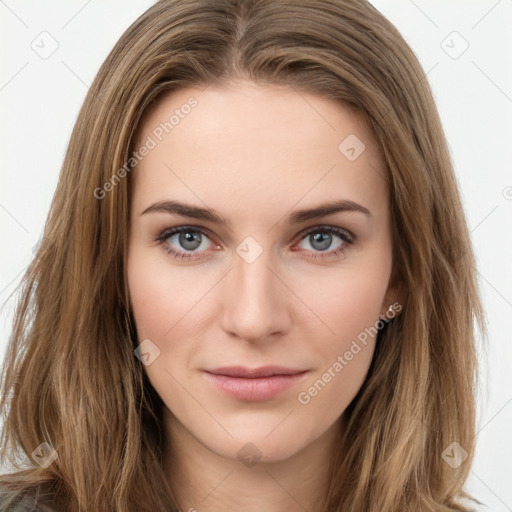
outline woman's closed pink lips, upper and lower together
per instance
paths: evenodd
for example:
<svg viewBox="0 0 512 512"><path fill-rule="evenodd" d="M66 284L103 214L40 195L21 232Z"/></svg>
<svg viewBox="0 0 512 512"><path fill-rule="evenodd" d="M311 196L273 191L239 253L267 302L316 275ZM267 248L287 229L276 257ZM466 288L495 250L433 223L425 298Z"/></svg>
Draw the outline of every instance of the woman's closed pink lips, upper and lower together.
<svg viewBox="0 0 512 512"><path fill-rule="evenodd" d="M308 370L282 366L246 368L229 366L203 370L205 377L218 389L239 400L270 400L296 385Z"/></svg>

